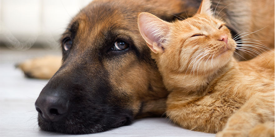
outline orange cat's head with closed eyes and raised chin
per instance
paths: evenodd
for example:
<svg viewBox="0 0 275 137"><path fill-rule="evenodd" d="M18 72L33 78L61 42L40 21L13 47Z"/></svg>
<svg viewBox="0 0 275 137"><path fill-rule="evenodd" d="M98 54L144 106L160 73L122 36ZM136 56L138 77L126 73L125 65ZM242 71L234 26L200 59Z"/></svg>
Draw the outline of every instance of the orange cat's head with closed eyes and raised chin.
<svg viewBox="0 0 275 137"><path fill-rule="evenodd" d="M138 27L160 71L214 72L232 59L236 44L225 23L214 17L210 0L197 14L173 23L140 13Z"/></svg>

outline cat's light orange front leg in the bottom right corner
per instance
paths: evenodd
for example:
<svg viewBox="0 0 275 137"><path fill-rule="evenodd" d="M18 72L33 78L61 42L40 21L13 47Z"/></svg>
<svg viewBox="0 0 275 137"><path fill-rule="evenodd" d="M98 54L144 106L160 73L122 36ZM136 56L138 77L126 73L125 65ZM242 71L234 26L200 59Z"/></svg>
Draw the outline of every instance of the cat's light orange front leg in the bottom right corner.
<svg viewBox="0 0 275 137"><path fill-rule="evenodd" d="M264 123L273 121L273 132L259 130ZM263 125L262 125L263 124ZM268 135L267 135L268 134ZM216 137L274 136L274 91L257 93L234 113Z"/></svg>

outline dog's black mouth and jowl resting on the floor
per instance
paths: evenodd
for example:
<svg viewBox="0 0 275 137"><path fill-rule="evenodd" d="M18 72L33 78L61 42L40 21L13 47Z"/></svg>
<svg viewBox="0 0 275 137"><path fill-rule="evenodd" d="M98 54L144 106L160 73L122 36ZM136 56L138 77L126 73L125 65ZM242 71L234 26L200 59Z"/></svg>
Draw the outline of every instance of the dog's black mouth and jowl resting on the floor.
<svg viewBox="0 0 275 137"><path fill-rule="evenodd" d="M51 111L49 114L43 114L37 108L40 129L64 134L92 134L129 125L133 121L132 111L122 106L103 105L95 102L83 104L76 100L72 100L70 103L69 110L64 116ZM44 113L46 112L44 111ZM53 115L55 120L44 115Z"/></svg>

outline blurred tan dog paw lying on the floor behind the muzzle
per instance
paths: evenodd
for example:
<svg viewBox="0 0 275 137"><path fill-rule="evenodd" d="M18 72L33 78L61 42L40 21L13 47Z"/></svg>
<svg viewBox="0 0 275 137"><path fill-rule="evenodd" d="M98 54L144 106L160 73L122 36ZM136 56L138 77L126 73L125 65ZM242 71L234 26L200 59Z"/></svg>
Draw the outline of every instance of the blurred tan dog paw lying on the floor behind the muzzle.
<svg viewBox="0 0 275 137"><path fill-rule="evenodd" d="M21 69L26 77L49 79L61 66L61 60L61 56L44 56L26 60L16 67Z"/></svg>

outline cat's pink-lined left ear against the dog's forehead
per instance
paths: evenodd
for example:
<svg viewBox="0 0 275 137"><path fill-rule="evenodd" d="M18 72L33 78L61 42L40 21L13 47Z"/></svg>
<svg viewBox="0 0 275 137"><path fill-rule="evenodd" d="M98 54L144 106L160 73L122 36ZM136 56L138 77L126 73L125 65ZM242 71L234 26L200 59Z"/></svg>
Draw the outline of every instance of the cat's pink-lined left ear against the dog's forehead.
<svg viewBox="0 0 275 137"><path fill-rule="evenodd" d="M153 14L142 12L138 16L138 29L148 47L154 53L163 53L164 36L168 34L169 22Z"/></svg>

